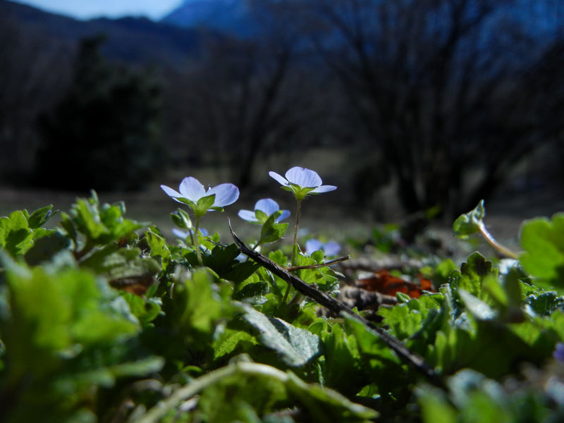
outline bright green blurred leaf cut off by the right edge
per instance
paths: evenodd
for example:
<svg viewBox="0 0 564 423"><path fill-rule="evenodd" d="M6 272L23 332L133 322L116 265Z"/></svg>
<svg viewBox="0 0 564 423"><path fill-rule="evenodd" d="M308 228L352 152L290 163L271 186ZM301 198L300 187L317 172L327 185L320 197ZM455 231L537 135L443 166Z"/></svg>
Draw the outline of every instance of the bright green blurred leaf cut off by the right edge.
<svg viewBox="0 0 564 423"><path fill-rule="evenodd" d="M521 226L520 240L523 269L546 286L564 288L564 213L555 214L550 221L526 221Z"/></svg>

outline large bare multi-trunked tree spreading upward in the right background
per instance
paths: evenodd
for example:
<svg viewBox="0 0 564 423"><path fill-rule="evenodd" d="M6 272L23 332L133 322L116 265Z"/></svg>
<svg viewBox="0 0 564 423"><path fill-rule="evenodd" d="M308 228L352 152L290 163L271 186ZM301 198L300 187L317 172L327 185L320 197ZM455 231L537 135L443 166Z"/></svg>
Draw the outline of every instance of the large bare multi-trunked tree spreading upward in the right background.
<svg viewBox="0 0 564 423"><path fill-rule="evenodd" d="M466 209L539 145L523 90L539 59L510 0L297 0L408 212ZM295 13L295 12L294 12ZM515 101L518 104L515 104ZM511 103L513 102L513 103ZM508 116L500 107L517 116ZM377 160L377 161L376 161Z"/></svg>

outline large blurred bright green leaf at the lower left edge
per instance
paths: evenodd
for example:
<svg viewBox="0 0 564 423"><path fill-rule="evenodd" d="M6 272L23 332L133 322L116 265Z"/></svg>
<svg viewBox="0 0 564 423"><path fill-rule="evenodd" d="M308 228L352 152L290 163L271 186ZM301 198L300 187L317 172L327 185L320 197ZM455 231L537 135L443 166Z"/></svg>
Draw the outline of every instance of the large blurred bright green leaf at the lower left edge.
<svg viewBox="0 0 564 423"><path fill-rule="evenodd" d="M9 312L0 315L6 345L7 383L58 372L61 360L101 345L118 345L140 326L107 306L107 298L90 272L66 268L49 273L2 257L6 269ZM26 376L26 377L27 377Z"/></svg>

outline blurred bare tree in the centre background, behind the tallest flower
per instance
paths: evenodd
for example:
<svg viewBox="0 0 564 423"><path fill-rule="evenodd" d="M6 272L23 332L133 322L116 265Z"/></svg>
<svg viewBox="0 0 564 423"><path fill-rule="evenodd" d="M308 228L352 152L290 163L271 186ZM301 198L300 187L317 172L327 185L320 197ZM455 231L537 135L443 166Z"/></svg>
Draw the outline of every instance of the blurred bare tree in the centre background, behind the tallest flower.
<svg viewBox="0 0 564 423"><path fill-rule="evenodd" d="M251 2L252 3L252 2ZM312 68L301 35L257 1L257 33L240 39L209 37L203 59L183 84L185 136L213 145L240 187L252 183L257 160L290 145L305 148L320 136L323 117L319 68ZM276 5L274 5L276 6Z"/></svg>

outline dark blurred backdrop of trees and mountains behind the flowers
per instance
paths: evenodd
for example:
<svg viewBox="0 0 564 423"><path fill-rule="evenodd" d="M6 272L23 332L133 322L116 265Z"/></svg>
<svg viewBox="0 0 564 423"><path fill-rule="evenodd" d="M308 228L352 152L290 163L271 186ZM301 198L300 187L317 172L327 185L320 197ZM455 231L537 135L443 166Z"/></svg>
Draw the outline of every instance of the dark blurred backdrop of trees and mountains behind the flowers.
<svg viewBox="0 0 564 423"><path fill-rule="evenodd" d="M446 216L508 181L562 192L560 1L191 3L153 22L0 1L2 184L131 190L211 167L252 191L318 151L341 201L376 215L382 192Z"/></svg>

